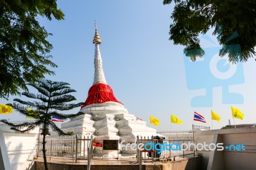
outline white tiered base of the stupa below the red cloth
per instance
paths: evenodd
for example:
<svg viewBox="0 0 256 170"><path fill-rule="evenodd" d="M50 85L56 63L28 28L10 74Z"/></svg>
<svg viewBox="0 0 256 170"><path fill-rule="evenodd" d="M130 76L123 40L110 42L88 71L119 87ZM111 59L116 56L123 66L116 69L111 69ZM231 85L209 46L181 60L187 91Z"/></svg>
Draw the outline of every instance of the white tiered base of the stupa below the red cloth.
<svg viewBox="0 0 256 170"><path fill-rule="evenodd" d="M147 127L147 123L137 120L136 116L129 114L124 105L116 102L91 104L83 107L83 115L77 116L67 123L61 124L64 132L73 132L76 135L93 135L94 143L103 143L103 140L118 140L119 153L135 154L135 151L124 150L120 146L127 143L136 143L137 135L151 137L156 134L156 129ZM95 146L93 153L102 154L102 147ZM104 154L117 151L103 151ZM115 155L115 154L114 154Z"/></svg>

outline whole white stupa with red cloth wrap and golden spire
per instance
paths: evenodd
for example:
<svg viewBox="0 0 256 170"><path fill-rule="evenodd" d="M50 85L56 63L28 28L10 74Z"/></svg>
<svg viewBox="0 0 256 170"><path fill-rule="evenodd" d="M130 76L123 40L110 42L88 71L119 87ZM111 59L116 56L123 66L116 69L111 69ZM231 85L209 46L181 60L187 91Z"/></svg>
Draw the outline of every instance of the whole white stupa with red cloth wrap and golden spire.
<svg viewBox="0 0 256 170"><path fill-rule="evenodd" d="M99 48L101 40L96 26L93 43L95 43L95 75L93 86L89 89L88 97L81 108L84 115L62 123L61 130L74 134L93 135L94 141L98 143L106 139L118 139L125 141L124 144L135 143L137 135L149 137L156 135L156 129L147 127L145 121L129 114L124 105L116 100L113 90L107 84ZM122 151L126 154L135 152ZM93 153L102 153L102 147L95 147Z"/></svg>

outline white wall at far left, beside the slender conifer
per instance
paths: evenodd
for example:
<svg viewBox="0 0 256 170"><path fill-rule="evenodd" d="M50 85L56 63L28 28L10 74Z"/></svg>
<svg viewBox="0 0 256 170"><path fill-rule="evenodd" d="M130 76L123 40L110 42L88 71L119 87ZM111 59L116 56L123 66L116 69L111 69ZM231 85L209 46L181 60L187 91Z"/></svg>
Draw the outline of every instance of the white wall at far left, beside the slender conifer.
<svg viewBox="0 0 256 170"><path fill-rule="evenodd" d="M29 134L19 134L10 130L8 125L0 124L0 170L33 169L33 162L28 161L35 148L39 128Z"/></svg>

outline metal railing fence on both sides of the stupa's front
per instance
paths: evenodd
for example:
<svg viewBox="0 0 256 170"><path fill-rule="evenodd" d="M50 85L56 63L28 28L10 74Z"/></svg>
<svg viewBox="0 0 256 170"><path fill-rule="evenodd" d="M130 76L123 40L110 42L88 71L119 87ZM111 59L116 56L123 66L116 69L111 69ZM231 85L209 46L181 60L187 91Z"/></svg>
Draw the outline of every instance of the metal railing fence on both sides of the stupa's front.
<svg viewBox="0 0 256 170"><path fill-rule="evenodd" d="M165 139L154 139L154 137L137 137L136 143L152 143L154 146L158 144L158 150L141 151L138 152L138 160L154 161L160 158L170 158L184 155L195 154L194 147L191 146L189 150L175 149L182 144L193 143L193 130L178 130L178 131L163 131L157 132L159 136L164 136ZM43 157L42 152L42 136L38 137L36 150L36 157ZM63 157L74 160L88 160L88 165L92 162L93 157L93 136L47 136L45 139L45 150L47 157ZM166 148L169 146L169 149ZM170 149L172 147L172 149ZM161 153L159 152L161 149ZM29 156L29 159L35 158L35 150Z"/></svg>

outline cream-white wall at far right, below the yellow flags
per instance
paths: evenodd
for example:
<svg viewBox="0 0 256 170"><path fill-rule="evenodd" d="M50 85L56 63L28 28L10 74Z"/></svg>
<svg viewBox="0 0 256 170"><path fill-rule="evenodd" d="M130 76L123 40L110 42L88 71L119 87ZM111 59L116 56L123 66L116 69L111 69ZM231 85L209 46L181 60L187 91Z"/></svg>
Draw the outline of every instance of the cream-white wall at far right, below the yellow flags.
<svg viewBox="0 0 256 170"><path fill-rule="evenodd" d="M228 128L220 130L196 130L196 143L244 144L245 151L196 151L203 155L204 169L256 169L256 127Z"/></svg>

